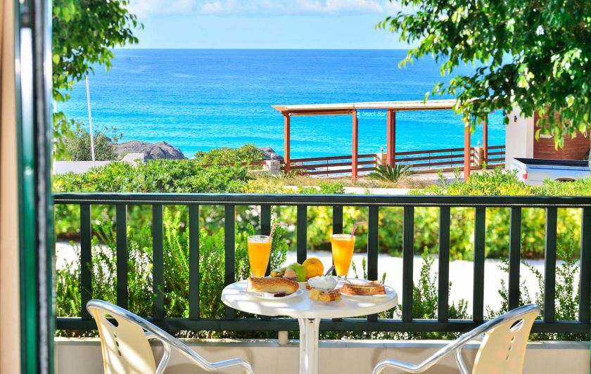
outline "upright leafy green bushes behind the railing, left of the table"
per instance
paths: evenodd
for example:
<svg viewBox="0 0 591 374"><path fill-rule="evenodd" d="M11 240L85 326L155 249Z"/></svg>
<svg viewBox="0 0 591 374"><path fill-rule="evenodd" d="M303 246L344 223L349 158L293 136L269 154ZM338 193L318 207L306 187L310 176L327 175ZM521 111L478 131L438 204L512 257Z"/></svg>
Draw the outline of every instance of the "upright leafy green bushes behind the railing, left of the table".
<svg viewBox="0 0 591 374"><path fill-rule="evenodd" d="M189 228L187 217L181 212L165 208L163 212L163 251L165 316L189 316ZM92 297L108 302L116 301L117 250L113 221L103 219L93 225L92 238ZM236 279L250 274L246 238L255 233L253 226L246 231L236 231ZM285 229L277 227L273 233L271 266L279 267L286 260L287 242ZM129 310L141 316L152 315L152 233L151 227L139 231L127 227ZM224 230L208 233L199 231L199 312L201 318L223 318L224 305L220 299L224 288ZM75 250L77 258L80 250ZM80 316L80 266L77 258L56 271L57 316ZM239 314L240 315L240 314ZM76 335L61 331L60 335ZM215 333L215 336L222 336ZM197 336L214 336L214 333L196 333Z"/></svg>

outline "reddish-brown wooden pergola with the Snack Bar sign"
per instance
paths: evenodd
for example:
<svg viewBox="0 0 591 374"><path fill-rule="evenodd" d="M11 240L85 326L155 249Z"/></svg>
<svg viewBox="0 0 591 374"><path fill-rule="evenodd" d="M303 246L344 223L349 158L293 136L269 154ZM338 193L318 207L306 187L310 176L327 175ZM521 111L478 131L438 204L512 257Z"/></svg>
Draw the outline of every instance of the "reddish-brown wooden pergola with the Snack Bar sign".
<svg viewBox="0 0 591 374"><path fill-rule="evenodd" d="M386 110L386 163L393 166L396 155L396 112L414 110L452 110L456 101L377 101L369 103L341 104L310 104L310 105L273 105L273 108L284 115L284 160L285 171L290 170L290 138L291 117L295 115L351 115L352 117L352 149L351 176L357 179L358 129L357 110ZM488 120L483 122L484 159L488 158ZM470 127L464 126L464 180L470 176Z"/></svg>

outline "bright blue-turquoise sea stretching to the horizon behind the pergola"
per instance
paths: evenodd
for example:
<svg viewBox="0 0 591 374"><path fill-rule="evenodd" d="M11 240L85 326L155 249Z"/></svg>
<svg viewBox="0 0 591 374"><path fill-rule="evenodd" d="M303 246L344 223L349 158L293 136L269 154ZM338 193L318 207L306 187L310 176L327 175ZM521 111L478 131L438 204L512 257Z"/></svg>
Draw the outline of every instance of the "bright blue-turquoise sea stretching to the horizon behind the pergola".
<svg viewBox="0 0 591 374"><path fill-rule="evenodd" d="M398 67L400 50L115 51L113 68L89 77L93 124L122 141L166 141L190 157L196 150L245 143L283 153L283 117L275 104L422 100L443 80L431 59ZM468 68L466 68L466 71ZM58 109L88 124L84 82ZM463 124L451 110L397 115L397 150L463 146ZM472 141L481 139L481 130ZM504 144L500 113L490 116L490 145ZM360 153L386 146L385 120L360 120ZM293 117L292 157L351 151L350 116Z"/></svg>

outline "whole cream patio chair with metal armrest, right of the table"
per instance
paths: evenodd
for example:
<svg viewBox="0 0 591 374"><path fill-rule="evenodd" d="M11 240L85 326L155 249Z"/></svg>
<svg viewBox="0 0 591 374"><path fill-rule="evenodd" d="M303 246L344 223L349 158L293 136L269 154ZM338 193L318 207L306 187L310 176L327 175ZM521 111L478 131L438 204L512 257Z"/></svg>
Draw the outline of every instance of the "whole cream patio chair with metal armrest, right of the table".
<svg viewBox="0 0 591 374"><path fill-rule="evenodd" d="M462 374L521 373L531 326L539 314L540 307L534 304L513 309L465 333L417 365L396 360L383 360L376 365L373 373L380 374L385 368L396 368L407 373L422 373L452 352L455 352L457 366ZM476 353L474 366L469 370L462 356L462 347L478 338L482 338L481 346Z"/></svg>

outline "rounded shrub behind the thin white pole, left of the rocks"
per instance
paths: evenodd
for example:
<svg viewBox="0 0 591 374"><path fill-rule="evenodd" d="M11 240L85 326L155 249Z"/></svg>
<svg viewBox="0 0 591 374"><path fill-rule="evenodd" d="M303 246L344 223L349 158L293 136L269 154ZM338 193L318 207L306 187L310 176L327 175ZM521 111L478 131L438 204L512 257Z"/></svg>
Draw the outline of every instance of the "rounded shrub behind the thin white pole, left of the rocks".
<svg viewBox="0 0 591 374"><path fill-rule="evenodd" d="M115 127L110 130L113 132L111 138L106 136L106 128L103 131L95 131L93 140L96 161L110 161L118 158L115 143L122 138L122 134L115 134L117 131ZM65 150L72 161L92 161L90 134L81 123L78 123L77 129L65 138L64 143Z"/></svg>

